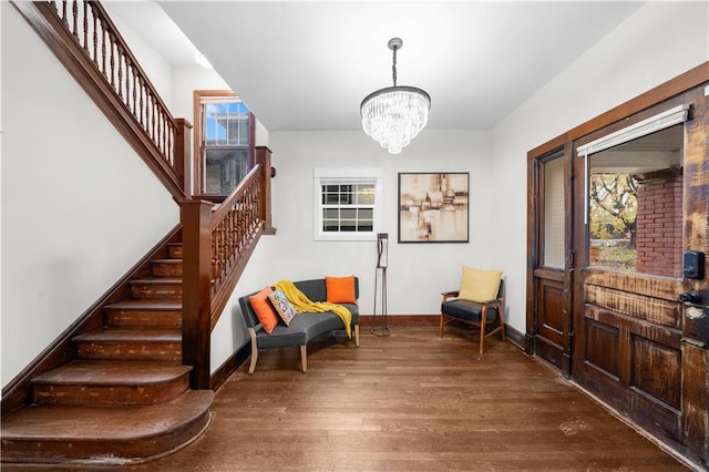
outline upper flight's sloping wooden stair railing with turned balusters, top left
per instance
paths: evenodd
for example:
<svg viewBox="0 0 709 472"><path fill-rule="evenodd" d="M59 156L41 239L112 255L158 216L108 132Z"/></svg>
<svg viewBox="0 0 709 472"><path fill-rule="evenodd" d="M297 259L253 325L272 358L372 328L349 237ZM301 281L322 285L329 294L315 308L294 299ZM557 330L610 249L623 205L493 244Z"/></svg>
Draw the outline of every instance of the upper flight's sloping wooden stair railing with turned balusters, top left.
<svg viewBox="0 0 709 472"><path fill-rule="evenodd" d="M189 188L189 130L175 119L96 1L13 1L176 199Z"/></svg>

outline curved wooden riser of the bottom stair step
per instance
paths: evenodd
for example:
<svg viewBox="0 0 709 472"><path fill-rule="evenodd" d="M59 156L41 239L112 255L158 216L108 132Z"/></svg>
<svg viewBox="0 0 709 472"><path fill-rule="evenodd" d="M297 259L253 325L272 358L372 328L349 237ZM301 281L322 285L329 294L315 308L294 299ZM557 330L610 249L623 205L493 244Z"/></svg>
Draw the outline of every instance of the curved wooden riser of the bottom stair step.
<svg viewBox="0 0 709 472"><path fill-rule="evenodd" d="M130 460L144 460L171 452L199 437L208 424L209 410L206 410L191 421L174 428L169 433L141 437L130 441L2 438L2 463L60 464L72 461L75 465L83 463L94 468L115 466Z"/></svg>

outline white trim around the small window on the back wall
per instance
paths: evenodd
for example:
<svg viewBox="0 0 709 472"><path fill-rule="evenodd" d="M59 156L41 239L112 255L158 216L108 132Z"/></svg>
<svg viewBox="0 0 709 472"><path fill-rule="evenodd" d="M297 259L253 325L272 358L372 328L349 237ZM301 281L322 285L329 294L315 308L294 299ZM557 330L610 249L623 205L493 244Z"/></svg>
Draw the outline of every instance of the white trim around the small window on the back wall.
<svg viewBox="0 0 709 472"><path fill-rule="evenodd" d="M322 184L340 182L342 184L348 183L361 183L373 182L374 183L374 215L373 215L373 228L371 232L354 233L342 232L332 233L322 230ZM382 202L383 202L383 179L382 172L379 168L329 168L317 167L312 170L312 202L314 202L314 240L377 240L377 233L382 227Z"/></svg>

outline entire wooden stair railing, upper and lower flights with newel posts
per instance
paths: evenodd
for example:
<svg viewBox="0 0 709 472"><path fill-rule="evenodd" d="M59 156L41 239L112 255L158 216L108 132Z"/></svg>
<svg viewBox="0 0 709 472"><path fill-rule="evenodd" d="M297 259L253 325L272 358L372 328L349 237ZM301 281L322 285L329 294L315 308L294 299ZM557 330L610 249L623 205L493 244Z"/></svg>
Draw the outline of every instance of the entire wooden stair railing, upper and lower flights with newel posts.
<svg viewBox="0 0 709 472"><path fill-rule="evenodd" d="M191 195L191 129L174 119L96 1L12 1L181 205L183 365L210 388L210 336L256 243L271 226L270 151L218 207Z"/></svg>

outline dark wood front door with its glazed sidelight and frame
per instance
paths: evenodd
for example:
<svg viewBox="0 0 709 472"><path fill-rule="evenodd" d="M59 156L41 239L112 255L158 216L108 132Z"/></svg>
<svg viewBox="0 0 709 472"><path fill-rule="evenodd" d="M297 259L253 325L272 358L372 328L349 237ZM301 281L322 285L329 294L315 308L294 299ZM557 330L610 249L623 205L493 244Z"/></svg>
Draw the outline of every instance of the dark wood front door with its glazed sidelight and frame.
<svg viewBox="0 0 709 472"><path fill-rule="evenodd" d="M709 468L709 62L527 157L526 351Z"/></svg>

